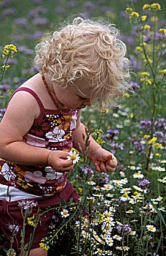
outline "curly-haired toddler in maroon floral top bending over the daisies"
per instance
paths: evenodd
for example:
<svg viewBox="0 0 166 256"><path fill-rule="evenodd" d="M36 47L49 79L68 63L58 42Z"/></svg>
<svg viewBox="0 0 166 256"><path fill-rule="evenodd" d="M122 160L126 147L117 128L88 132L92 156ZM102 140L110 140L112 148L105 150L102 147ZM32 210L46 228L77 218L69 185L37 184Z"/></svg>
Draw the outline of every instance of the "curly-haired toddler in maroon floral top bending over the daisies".
<svg viewBox="0 0 166 256"><path fill-rule="evenodd" d="M36 46L39 73L15 91L0 124L0 216L8 239L9 224L23 225L19 200L37 201L33 213L58 206L62 198L78 200L67 181L74 167L68 152L73 146L79 151L79 143L84 148L82 108L95 99L100 106L113 105L122 97L129 77L125 53L114 26L81 18ZM114 172L117 165L92 137L88 158L99 173ZM31 256L47 255L39 243L51 218L49 211L36 228ZM25 244L32 230L25 226ZM14 246L19 252L19 232Z"/></svg>

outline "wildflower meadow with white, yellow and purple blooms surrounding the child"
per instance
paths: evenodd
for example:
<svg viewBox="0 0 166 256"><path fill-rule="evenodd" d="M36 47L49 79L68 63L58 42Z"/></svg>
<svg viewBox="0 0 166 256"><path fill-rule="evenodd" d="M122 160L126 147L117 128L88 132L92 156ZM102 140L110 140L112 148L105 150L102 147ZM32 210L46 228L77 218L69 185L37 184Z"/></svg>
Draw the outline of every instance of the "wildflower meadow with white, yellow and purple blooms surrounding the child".
<svg viewBox="0 0 166 256"><path fill-rule="evenodd" d="M80 154L69 180L82 200L57 209L59 219L52 219L50 237L41 246L50 246L49 255L165 255L164 0L0 1L0 52L9 44L17 48L0 58L0 118L12 92L38 72L32 64L36 43L77 16L107 20L120 29L135 94L125 94L111 110L83 110L87 140L91 133L118 165L113 175L96 173ZM0 255L15 255L5 244L1 234Z"/></svg>

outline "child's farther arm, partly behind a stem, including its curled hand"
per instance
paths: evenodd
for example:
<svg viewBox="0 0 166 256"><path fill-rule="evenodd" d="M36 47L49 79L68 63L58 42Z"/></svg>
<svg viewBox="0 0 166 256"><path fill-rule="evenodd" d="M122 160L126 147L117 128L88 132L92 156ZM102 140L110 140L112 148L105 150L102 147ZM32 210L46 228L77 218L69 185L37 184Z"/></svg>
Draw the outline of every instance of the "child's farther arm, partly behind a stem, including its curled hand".
<svg viewBox="0 0 166 256"><path fill-rule="evenodd" d="M74 131L74 148L76 148L79 151L79 144L81 144L83 150L84 150L84 140L82 139L82 134L84 134L84 137L86 138L85 134L85 127L84 124L80 121L80 115L78 117L77 121L77 128ZM90 159L95 166L95 169L101 173L101 172L114 172L117 162L116 159L113 161L114 155L111 154L111 152L106 151L103 149L93 138L90 136L90 149L87 154L88 159Z"/></svg>

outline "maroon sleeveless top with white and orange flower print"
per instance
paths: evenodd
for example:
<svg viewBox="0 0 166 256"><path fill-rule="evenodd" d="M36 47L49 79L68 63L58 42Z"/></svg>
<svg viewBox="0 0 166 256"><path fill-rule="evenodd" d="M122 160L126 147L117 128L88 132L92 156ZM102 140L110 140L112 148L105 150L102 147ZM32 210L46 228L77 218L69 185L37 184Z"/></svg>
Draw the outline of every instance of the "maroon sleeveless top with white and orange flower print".
<svg viewBox="0 0 166 256"><path fill-rule="evenodd" d="M39 97L31 89L20 87L15 93L17 91L28 91L35 97L40 107L40 114L23 137L23 141L28 145L48 148L52 151L70 151L79 109L74 108L71 113L63 115L59 110L45 109ZM66 186L66 182L67 173L58 173L51 166L17 165L0 159L0 184L42 196L60 192Z"/></svg>

